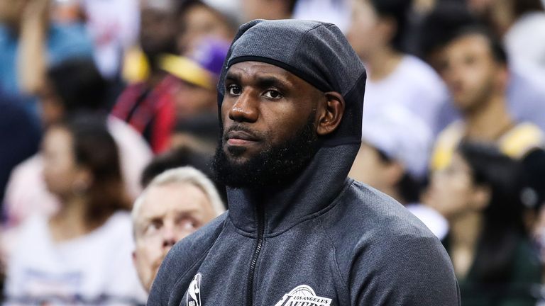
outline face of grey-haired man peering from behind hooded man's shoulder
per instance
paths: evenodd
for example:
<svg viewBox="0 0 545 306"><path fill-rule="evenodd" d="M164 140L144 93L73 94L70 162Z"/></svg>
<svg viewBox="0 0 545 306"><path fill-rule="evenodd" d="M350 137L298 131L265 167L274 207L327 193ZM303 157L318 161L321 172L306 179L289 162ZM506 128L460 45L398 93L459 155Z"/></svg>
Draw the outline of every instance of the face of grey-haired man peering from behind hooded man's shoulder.
<svg viewBox="0 0 545 306"><path fill-rule="evenodd" d="M134 224L136 271L150 290L170 248L216 217L205 193L190 183L170 183L148 190Z"/></svg>

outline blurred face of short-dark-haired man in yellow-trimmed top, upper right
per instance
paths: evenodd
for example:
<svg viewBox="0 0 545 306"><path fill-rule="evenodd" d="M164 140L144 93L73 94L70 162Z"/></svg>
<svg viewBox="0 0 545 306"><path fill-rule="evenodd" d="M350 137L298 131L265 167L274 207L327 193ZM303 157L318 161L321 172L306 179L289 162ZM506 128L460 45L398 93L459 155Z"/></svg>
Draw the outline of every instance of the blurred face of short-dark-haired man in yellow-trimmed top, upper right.
<svg viewBox="0 0 545 306"><path fill-rule="evenodd" d="M501 90L499 78L505 67L495 62L490 44L482 35L470 34L446 45L439 73L456 106L464 113L479 108Z"/></svg>

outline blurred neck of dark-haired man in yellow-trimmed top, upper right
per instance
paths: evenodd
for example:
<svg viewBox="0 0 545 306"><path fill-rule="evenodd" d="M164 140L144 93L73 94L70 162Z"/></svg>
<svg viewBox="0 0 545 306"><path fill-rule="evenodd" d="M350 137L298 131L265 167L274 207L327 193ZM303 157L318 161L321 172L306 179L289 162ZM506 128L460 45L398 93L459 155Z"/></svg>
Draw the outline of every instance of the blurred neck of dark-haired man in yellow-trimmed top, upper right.
<svg viewBox="0 0 545 306"><path fill-rule="evenodd" d="M466 137L469 140L495 141L514 124L505 108L505 98L492 96L490 101L465 115Z"/></svg>

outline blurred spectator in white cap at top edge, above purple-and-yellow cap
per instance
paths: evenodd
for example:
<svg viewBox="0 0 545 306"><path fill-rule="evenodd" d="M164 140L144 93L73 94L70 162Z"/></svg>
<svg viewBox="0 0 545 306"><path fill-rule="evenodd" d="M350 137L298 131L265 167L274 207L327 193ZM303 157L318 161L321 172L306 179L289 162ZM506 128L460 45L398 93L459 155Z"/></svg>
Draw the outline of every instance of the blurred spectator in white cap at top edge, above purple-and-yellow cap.
<svg viewBox="0 0 545 306"><path fill-rule="evenodd" d="M203 38L231 42L239 25L238 0L185 0L179 8L177 47L188 55Z"/></svg>

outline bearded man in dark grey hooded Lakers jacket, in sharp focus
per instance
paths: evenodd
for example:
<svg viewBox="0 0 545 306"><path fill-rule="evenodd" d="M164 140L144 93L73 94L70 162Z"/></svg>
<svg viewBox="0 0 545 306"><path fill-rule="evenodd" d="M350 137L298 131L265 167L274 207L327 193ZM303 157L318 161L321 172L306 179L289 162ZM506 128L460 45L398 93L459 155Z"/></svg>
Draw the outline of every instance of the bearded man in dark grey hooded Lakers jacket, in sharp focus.
<svg viewBox="0 0 545 306"><path fill-rule="evenodd" d="M347 177L365 77L333 24L239 28L214 157L229 212L172 248L148 305L460 305L439 240Z"/></svg>

